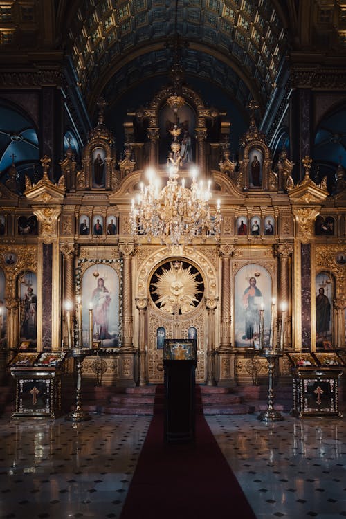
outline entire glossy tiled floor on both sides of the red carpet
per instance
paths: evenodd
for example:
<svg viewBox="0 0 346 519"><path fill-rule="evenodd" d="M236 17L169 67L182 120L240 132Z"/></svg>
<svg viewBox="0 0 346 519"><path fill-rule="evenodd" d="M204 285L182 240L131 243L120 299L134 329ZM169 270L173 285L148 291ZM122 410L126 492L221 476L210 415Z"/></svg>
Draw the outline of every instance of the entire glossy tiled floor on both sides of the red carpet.
<svg viewBox="0 0 346 519"><path fill-rule="evenodd" d="M346 517L345 419L207 420L258 519ZM2 417L0 518L118 518L149 422Z"/></svg>

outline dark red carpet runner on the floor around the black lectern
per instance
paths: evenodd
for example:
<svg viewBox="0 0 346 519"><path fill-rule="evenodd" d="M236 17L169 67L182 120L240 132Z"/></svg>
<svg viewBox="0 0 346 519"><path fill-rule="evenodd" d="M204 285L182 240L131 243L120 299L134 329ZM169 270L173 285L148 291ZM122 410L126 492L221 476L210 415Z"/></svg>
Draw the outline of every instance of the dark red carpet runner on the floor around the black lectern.
<svg viewBox="0 0 346 519"><path fill-rule="evenodd" d="M203 415L195 444L165 444L154 415L121 519L255 519Z"/></svg>

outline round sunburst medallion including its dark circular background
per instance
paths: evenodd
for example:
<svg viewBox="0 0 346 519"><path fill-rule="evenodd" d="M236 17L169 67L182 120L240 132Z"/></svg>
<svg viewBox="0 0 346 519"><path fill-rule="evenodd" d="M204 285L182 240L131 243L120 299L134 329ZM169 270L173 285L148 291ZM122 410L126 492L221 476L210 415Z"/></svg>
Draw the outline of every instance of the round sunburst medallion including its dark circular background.
<svg viewBox="0 0 346 519"><path fill-rule="evenodd" d="M201 274L193 265L172 261L161 265L150 283L150 293L156 306L165 313L188 313L203 297Z"/></svg>

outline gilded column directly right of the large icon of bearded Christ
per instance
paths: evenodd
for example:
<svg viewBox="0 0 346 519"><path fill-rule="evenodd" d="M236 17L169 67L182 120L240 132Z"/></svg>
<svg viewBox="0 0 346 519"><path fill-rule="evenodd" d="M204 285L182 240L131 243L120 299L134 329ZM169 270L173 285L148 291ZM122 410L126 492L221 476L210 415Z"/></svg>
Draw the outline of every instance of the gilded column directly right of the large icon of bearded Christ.
<svg viewBox="0 0 346 519"><path fill-rule="evenodd" d="M284 314L284 345L291 344L291 305L290 305L290 287L289 287L289 260L293 253L293 245L279 244L277 253L280 260L280 304L278 311L281 311L281 304L286 304Z"/></svg>

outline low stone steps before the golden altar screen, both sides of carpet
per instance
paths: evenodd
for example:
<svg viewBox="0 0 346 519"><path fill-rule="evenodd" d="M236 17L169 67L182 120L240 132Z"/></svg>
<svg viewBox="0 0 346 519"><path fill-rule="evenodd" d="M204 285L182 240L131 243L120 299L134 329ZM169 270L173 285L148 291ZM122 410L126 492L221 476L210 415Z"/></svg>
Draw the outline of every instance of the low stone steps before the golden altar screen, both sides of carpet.
<svg viewBox="0 0 346 519"><path fill-rule="evenodd" d="M267 385L239 385L233 388L199 385L196 410L204 415L242 415L266 410ZM291 383L274 387L274 407L280 412L289 412L293 406ZM96 386L91 381L82 383L82 408L89 412L109 415L148 415L164 410L163 385L146 385L134 388ZM75 381L62 384L62 412L75 409ZM0 412L11 414L15 410L15 385L2 386ZM340 388L339 410L345 415L346 391Z"/></svg>

